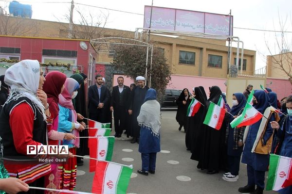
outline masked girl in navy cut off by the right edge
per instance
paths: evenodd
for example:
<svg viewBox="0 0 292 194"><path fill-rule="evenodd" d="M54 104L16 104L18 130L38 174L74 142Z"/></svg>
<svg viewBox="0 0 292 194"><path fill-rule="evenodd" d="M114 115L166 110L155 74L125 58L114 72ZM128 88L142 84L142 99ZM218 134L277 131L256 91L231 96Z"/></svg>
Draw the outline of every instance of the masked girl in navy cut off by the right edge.
<svg viewBox="0 0 292 194"><path fill-rule="evenodd" d="M285 116L282 125L277 122L271 122L273 129L277 130L280 138L278 146L278 155L292 158L292 96L286 98L286 107L288 114ZM280 194L292 194L292 186L278 191Z"/></svg>

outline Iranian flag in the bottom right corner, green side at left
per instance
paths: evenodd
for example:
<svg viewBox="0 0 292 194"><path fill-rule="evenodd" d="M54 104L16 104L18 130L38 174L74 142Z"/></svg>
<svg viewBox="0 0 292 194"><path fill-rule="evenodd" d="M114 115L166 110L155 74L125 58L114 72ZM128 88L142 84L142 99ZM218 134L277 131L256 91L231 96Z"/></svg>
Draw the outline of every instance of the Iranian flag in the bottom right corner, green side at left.
<svg viewBox="0 0 292 194"><path fill-rule="evenodd" d="M278 191L292 185L292 158L270 155L267 191Z"/></svg>

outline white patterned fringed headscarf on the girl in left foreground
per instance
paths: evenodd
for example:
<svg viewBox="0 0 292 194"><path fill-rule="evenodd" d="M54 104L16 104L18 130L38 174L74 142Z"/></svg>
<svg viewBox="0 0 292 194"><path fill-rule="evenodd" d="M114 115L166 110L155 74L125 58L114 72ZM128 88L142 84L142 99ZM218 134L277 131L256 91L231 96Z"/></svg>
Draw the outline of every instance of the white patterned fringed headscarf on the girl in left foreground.
<svg viewBox="0 0 292 194"><path fill-rule="evenodd" d="M45 120L45 108L37 97L39 68L37 60L23 60L6 70L4 82L11 87L11 92L5 103L18 100L19 97L27 97L36 105Z"/></svg>

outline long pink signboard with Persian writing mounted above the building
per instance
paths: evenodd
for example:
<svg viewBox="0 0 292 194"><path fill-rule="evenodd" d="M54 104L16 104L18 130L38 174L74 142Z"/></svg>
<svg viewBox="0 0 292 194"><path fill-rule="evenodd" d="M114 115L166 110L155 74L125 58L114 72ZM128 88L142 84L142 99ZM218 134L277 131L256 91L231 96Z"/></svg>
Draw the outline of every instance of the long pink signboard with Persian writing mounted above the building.
<svg viewBox="0 0 292 194"><path fill-rule="evenodd" d="M220 15L164 7L145 6L144 28L159 30L199 32L212 35L229 35L229 15ZM233 35L233 16L231 34Z"/></svg>

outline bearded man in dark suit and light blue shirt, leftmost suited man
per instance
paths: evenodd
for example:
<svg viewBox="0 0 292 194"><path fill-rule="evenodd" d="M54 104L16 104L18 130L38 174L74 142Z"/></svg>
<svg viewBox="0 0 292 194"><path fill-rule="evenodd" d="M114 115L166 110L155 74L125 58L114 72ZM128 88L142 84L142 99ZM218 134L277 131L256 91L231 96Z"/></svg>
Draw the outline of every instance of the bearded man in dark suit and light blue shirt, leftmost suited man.
<svg viewBox="0 0 292 194"><path fill-rule="evenodd" d="M110 102L110 91L102 85L102 75L95 76L96 84L91 85L88 89L89 99L89 118L101 123L107 121L107 110L105 105Z"/></svg>

